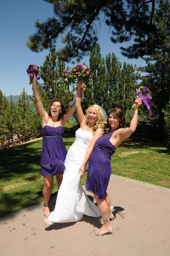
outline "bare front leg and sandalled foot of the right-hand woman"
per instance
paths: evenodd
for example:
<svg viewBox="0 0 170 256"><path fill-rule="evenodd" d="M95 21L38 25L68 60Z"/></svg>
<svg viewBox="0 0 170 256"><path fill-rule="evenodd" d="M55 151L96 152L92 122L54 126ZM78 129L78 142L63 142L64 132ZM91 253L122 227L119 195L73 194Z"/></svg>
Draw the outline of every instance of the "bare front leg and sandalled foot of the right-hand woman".
<svg viewBox="0 0 170 256"><path fill-rule="evenodd" d="M101 216L102 216L103 221L104 221L104 226L100 229L100 233L104 234L106 232L105 227L106 228L111 228L111 230L112 230L111 223L110 223L110 213L109 213L108 204L105 201L105 199L100 200L98 198L98 196L96 196L96 195L94 195L94 198L95 198L96 202L98 203L99 212L101 213ZM94 231L94 233L96 235L98 235L98 231Z"/></svg>

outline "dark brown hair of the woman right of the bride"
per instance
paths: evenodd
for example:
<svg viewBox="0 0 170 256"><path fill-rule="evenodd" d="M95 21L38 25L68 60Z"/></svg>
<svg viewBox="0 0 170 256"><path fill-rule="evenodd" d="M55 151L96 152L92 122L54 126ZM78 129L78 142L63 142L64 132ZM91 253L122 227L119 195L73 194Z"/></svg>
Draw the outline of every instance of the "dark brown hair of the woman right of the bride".
<svg viewBox="0 0 170 256"><path fill-rule="evenodd" d="M119 120L119 127L118 128L125 127L125 114L124 114L124 112L119 108L114 108L111 111L109 111L108 114L107 114L107 123L106 123L106 128L105 128L107 133L111 131L111 125L109 124L109 116L110 115L112 115L117 120Z"/></svg>

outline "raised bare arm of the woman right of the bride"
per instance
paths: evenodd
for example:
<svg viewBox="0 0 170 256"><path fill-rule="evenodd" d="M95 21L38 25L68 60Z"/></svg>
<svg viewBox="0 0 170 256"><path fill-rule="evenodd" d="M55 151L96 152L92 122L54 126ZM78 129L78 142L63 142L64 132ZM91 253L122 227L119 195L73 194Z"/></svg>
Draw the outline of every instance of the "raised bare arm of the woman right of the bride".
<svg viewBox="0 0 170 256"><path fill-rule="evenodd" d="M116 147L122 143L122 140L130 137L131 134L136 130L138 124L138 110L139 106L142 104L142 99L136 99L137 103L136 109L133 112L133 118L130 122L130 127L128 128L119 128L114 134L111 136L111 143Z"/></svg>

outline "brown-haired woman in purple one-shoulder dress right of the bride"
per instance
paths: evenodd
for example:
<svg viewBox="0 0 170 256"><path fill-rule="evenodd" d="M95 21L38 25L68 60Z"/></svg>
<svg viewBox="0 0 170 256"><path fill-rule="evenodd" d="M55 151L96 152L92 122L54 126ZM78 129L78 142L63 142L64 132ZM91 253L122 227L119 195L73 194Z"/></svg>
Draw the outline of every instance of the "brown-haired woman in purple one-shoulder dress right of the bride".
<svg viewBox="0 0 170 256"><path fill-rule="evenodd" d="M82 166L79 169L80 177L82 178L89 158L86 189L94 193L94 198L98 203L99 212L102 216L100 220L104 222L104 225L99 230L94 231L96 236L112 233L110 220L114 219L114 216L111 212L111 199L106 192L111 176L111 155L115 153L116 148L121 145L123 139L130 137L137 127L138 109L142 104L142 99L136 99L135 103L137 107L134 110L129 128L123 128L125 117L122 110L116 108L109 112L107 117L109 132L96 141L94 151L88 148Z"/></svg>

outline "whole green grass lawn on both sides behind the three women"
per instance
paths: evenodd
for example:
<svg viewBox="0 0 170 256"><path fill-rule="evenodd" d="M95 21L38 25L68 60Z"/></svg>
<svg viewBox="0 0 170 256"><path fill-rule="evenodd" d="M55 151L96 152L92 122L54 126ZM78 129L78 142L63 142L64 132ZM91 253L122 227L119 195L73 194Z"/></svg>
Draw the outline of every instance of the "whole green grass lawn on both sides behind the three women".
<svg viewBox="0 0 170 256"><path fill-rule="evenodd" d="M74 135L65 135L64 142L68 151ZM170 152L165 145L156 139L125 140L111 158L112 174L170 188ZM42 202L41 150L38 140L0 151L0 217ZM52 196L56 191L54 180Z"/></svg>

